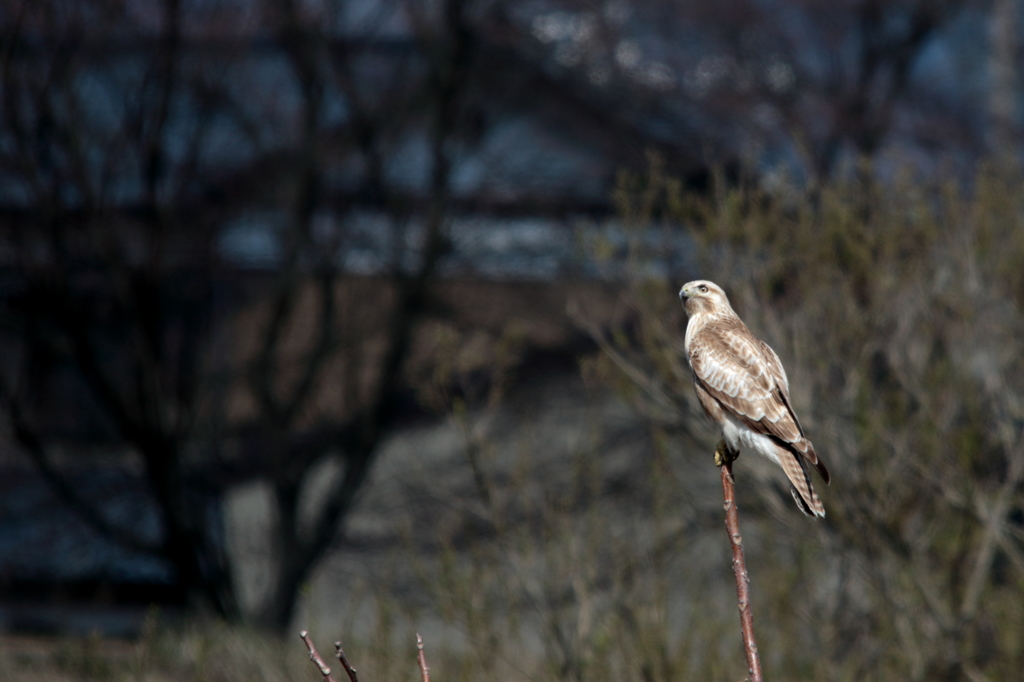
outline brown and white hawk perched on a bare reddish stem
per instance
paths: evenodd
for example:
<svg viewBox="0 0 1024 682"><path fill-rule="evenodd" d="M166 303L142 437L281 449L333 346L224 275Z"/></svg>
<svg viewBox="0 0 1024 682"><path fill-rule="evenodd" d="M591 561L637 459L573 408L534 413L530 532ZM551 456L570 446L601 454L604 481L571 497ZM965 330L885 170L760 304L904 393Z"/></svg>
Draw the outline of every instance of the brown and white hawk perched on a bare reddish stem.
<svg viewBox="0 0 1024 682"><path fill-rule="evenodd" d="M707 280L679 292L689 316L686 359L697 398L732 454L754 451L782 467L793 499L808 516L824 516L811 485L810 464L825 484L828 470L804 435L790 403L790 380L778 355L746 329L725 292Z"/></svg>

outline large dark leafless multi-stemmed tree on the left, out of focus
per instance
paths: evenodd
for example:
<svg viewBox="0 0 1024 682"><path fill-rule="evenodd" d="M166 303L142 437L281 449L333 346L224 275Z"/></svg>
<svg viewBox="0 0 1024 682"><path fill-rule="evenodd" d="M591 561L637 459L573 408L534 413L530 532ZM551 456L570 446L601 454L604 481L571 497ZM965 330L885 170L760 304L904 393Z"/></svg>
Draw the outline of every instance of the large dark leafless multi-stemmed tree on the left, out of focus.
<svg viewBox="0 0 1024 682"><path fill-rule="evenodd" d="M415 3L382 5L385 18L403 14L414 28L408 54L386 65L375 63L373 40L329 29L343 3L322 14L263 3L266 47L259 31L232 33L245 17L176 0L4 7L13 19L2 63L13 282L4 331L14 359L2 397L12 433L94 529L166 560L224 617L245 615L219 527L224 492L253 477L273 491L280 564L257 621L283 630L396 415L446 249L473 77L469 6L451 0L427 14ZM247 72L260 49L285 65L276 91L258 87L272 69ZM259 97L266 109L254 114ZM329 120L329 97L343 99L341 122ZM410 131L429 150L425 201L413 205L387 167ZM327 179L344 164L364 169L359 191L393 240L372 300L344 280L339 255L359 233L356 206L339 205ZM280 216L280 248L247 295L253 287L220 247L225 226L254 211ZM259 330L248 348L232 338L245 309ZM62 382L80 418L97 420L100 440L141 463L159 538L110 518L54 457ZM87 455L72 452L80 463ZM341 474L312 518L300 518L302 486L326 460Z"/></svg>

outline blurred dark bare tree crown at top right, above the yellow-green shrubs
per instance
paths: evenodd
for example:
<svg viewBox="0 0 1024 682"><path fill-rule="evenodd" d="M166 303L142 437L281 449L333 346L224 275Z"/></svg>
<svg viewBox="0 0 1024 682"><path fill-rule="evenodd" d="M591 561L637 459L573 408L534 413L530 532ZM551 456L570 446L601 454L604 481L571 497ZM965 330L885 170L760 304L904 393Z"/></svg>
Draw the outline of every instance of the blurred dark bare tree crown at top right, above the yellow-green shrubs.
<svg viewBox="0 0 1024 682"><path fill-rule="evenodd" d="M630 102L613 111L642 113L643 125L656 122L677 140L695 137L707 161L798 155L791 165L823 180L894 137L935 146L941 135L943 145L982 151L971 121L912 79L925 49L968 6L567 0L550 3L534 33L580 80ZM675 174L680 146L658 148Z"/></svg>

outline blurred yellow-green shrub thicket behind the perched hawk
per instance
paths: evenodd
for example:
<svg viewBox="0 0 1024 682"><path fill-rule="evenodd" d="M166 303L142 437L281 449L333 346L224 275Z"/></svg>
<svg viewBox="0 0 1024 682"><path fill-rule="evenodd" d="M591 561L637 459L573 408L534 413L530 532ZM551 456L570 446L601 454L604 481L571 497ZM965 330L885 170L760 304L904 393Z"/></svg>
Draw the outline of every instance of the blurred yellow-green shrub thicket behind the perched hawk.
<svg viewBox="0 0 1024 682"><path fill-rule="evenodd" d="M628 251L623 300L634 314L600 329L585 310L570 313L601 346L585 375L634 409L648 452L617 468L596 419L569 466L539 461L551 446L540 442L520 454L520 475L488 478L485 429L453 404L472 434L482 502L411 537L433 532L441 548L423 588L475 651L454 657L460 678L506 677L496 660L571 680L742 674L721 510L700 497L717 494L701 473L714 474L717 434L682 356L676 292L697 275L723 285L783 358L834 473L828 515L813 522L772 467L738 465L766 676L981 680L1020 670L1024 193L1016 175L989 171L967 188L871 177L865 169L812 195L779 183L706 196L656 163L623 178L630 238L586 239L598 260ZM652 227L688 232L699 272L666 279Z"/></svg>

